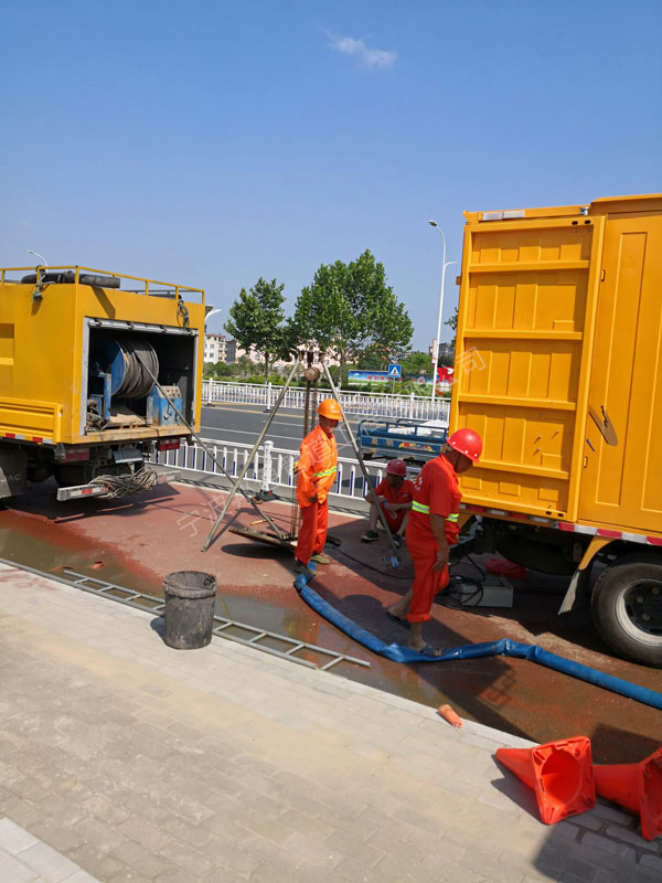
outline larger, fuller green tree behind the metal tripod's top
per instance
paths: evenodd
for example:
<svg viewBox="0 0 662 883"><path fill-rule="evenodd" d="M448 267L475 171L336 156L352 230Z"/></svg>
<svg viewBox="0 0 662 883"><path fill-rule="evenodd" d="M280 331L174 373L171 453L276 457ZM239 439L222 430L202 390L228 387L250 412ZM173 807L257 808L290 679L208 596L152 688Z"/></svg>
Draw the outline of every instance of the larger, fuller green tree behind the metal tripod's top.
<svg viewBox="0 0 662 883"><path fill-rule="evenodd" d="M299 341L314 341L339 360L341 379L366 348L403 352L414 331L404 304L386 284L384 265L370 251L350 264L322 264L301 290L293 327Z"/></svg>

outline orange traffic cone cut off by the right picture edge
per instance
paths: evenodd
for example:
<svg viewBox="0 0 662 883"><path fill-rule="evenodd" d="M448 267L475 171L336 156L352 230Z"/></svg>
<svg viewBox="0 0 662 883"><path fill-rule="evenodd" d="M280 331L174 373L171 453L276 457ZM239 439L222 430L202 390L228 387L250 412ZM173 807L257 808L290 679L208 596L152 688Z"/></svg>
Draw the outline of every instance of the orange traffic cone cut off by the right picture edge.
<svg viewBox="0 0 662 883"><path fill-rule="evenodd" d="M662 834L662 748L638 764L594 766L594 777L600 797L639 812L644 840Z"/></svg>

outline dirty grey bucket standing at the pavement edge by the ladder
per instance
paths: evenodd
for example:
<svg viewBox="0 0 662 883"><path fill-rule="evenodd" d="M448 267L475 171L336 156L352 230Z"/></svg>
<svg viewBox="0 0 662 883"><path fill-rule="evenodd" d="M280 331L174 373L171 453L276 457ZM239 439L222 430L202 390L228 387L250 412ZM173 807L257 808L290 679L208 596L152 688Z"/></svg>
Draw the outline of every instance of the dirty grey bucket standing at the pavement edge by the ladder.
<svg viewBox="0 0 662 883"><path fill-rule="evenodd" d="M196 650L212 640L216 577L201 571L177 571L163 579L164 640L175 650Z"/></svg>

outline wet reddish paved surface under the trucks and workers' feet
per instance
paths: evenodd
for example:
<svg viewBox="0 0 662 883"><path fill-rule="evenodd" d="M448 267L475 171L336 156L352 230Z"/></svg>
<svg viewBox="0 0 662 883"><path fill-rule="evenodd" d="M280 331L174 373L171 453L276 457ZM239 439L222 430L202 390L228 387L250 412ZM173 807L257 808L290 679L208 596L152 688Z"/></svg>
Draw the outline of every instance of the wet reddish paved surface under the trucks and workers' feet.
<svg viewBox="0 0 662 883"><path fill-rule="evenodd" d="M402 666L364 650L301 602L292 587L292 556L287 551L226 531L209 552L200 551L222 500L209 489L172 485L126 502L57 503L52 486L36 486L12 509L0 511L1 554L45 571L72 566L150 594L160 593L163 577L172 571L209 571L218 579L222 615L367 659L367 670L343 667L342 673L353 679L433 706L448 701L465 716L536 742L588 735L602 763L638 760L659 746L662 712L532 662L493 657ZM287 528L288 507L270 504L267 511ZM233 502L226 522L248 526L257 518L241 499ZM408 587L408 557L405 552L397 575L375 573L352 561L349 555L385 571L386 543L361 543L364 529L363 521L332 514L331 532L342 546L330 551L334 562L320 567L313 586L373 634L404 642L406 632L383 611ZM435 605L428 638L440 647L502 637L538 643L662 691L660 670L606 655L585 614L555 616L563 588L558 578L532 574L514 584L512 610Z"/></svg>

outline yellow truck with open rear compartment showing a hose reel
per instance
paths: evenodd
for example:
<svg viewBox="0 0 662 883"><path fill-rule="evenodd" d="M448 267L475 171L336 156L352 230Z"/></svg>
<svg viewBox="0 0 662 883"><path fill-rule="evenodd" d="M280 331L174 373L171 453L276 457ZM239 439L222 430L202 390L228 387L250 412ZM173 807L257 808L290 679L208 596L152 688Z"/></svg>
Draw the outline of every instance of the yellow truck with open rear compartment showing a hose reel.
<svg viewBox="0 0 662 883"><path fill-rule="evenodd" d="M28 270L0 269L0 498L51 476L61 500L151 487L149 456L200 428L204 291Z"/></svg>

